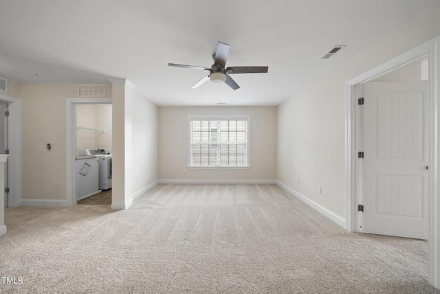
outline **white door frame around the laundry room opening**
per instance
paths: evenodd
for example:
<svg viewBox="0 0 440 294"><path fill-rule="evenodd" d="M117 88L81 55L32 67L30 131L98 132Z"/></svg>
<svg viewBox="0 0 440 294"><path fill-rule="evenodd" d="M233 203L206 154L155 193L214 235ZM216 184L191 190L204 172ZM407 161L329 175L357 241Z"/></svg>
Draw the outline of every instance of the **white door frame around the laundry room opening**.
<svg viewBox="0 0 440 294"><path fill-rule="evenodd" d="M76 205L76 106L78 104L112 104L111 98L66 99L66 199Z"/></svg>

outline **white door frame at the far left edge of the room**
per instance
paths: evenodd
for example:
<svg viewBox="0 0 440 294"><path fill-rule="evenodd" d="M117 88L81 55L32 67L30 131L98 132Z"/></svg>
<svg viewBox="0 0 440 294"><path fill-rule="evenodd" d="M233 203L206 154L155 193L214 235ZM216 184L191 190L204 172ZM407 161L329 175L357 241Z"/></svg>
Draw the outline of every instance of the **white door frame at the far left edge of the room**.
<svg viewBox="0 0 440 294"><path fill-rule="evenodd" d="M11 116L8 124L8 148L15 151L8 157L8 206L17 207L21 205L21 100L3 94L0 94L0 100L8 102Z"/></svg>

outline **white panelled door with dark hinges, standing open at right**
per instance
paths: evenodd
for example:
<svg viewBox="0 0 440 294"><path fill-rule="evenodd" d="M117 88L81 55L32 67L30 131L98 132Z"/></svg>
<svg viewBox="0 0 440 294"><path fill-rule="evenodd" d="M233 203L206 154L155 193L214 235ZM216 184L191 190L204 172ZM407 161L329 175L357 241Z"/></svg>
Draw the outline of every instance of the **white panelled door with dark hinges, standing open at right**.
<svg viewBox="0 0 440 294"><path fill-rule="evenodd" d="M428 239L427 93L427 81L364 84L364 233Z"/></svg>

